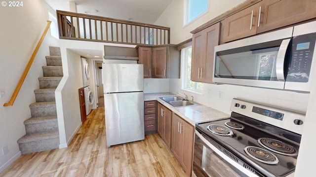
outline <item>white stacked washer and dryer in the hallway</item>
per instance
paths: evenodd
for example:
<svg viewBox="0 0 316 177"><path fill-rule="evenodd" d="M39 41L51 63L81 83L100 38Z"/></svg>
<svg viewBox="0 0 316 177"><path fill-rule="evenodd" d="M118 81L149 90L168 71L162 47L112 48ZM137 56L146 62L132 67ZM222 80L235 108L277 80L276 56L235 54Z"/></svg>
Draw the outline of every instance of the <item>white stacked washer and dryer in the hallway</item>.
<svg viewBox="0 0 316 177"><path fill-rule="evenodd" d="M89 64L87 59L81 58L81 68L82 68L82 81L83 81L83 89L84 89L84 100L85 100L85 112L88 115L91 112L91 107L94 101L93 92L89 87Z"/></svg>

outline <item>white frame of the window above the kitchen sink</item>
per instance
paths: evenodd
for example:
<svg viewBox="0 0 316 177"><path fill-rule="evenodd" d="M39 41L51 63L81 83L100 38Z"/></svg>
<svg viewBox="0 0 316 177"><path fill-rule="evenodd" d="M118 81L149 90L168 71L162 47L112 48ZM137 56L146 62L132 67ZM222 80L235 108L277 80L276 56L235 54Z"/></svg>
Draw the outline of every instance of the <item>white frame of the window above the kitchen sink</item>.
<svg viewBox="0 0 316 177"><path fill-rule="evenodd" d="M194 83L194 89L189 89L187 87L188 83L187 83L187 80L188 80L188 55L186 55L188 53L188 50L189 48L192 48L192 46L189 46L189 47L186 47L186 48L183 48L181 49L181 68L183 68L183 70L181 71L181 89L182 90L185 90L185 91L190 91L190 92L193 92L193 93L197 93L197 94L203 94L203 83L202 84L202 89L197 89L197 83L198 82L195 82L195 81L192 81L191 80L191 73L190 73L190 80L191 82ZM192 61L192 60L191 60ZM192 63L191 63L192 64Z"/></svg>

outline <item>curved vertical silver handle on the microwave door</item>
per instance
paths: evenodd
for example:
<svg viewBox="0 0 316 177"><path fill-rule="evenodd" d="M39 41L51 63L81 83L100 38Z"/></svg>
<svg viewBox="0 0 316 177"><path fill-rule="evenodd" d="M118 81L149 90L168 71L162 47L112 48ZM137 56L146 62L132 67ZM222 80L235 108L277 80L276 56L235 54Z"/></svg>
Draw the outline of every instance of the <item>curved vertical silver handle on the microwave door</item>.
<svg viewBox="0 0 316 177"><path fill-rule="evenodd" d="M284 39L280 45L280 48L276 57L276 79L284 80L284 59L286 55L287 47L291 39Z"/></svg>

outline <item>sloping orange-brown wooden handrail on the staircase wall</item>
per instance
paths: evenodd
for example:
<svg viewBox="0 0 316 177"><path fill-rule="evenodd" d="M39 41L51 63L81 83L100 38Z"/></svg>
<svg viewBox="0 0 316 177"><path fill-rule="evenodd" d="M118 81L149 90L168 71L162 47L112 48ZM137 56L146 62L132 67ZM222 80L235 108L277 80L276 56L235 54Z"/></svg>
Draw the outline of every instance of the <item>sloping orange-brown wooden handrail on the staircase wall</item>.
<svg viewBox="0 0 316 177"><path fill-rule="evenodd" d="M30 58L30 60L29 60L29 62L27 64L27 66L24 69L24 72L23 72L23 74L22 74L22 76L20 78L20 81L18 82L18 84L17 84L17 86L16 86L16 88L15 88L15 90L14 90L12 96L11 96L10 101L7 102L7 103L4 103L3 106L12 106L13 105L13 103L14 103L14 101L15 101L15 99L16 99L16 97L17 97L17 95L18 95L18 93L19 93L19 91L20 91L20 89L21 89L21 87L23 85L23 82L24 82L24 80L25 80L25 78L26 78L26 76L27 76L27 74L28 74L28 72L30 70L30 67L31 67L31 65L32 65L32 63L33 63L33 61L35 59L35 56L36 56L36 54L38 53L38 51L40 49L40 45L41 45L41 43L44 40L44 37L45 37L45 35L46 35L46 33L47 33L48 29L49 29L50 24L51 24L51 21L47 20L47 26L46 26L43 34L41 35L40 41L38 42L38 44L37 44L32 56L31 56L31 58Z"/></svg>

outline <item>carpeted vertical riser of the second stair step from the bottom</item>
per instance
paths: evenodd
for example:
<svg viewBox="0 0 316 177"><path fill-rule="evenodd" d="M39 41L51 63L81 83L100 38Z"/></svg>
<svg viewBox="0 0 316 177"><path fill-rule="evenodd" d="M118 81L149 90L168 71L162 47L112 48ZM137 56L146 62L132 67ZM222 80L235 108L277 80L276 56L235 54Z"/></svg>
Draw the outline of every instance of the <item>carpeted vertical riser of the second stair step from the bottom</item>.
<svg viewBox="0 0 316 177"><path fill-rule="evenodd" d="M57 131L58 122L56 120L56 121L49 121L49 122L27 124L25 125L25 130L26 130L26 134Z"/></svg>

